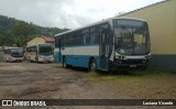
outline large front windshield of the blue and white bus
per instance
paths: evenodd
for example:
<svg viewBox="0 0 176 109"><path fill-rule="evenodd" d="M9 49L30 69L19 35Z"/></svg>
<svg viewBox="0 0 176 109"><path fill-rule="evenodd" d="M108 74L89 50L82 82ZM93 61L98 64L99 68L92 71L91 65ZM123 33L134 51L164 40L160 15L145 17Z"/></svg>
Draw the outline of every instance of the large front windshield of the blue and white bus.
<svg viewBox="0 0 176 109"><path fill-rule="evenodd" d="M142 55L150 52L148 28L142 21L119 21L114 26L116 51L123 55Z"/></svg>

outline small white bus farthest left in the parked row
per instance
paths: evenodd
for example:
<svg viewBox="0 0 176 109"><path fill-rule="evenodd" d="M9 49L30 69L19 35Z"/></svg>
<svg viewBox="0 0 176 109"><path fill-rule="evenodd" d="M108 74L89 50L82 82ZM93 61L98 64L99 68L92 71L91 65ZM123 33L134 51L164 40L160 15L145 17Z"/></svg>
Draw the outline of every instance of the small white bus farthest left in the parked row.
<svg viewBox="0 0 176 109"><path fill-rule="evenodd" d="M22 47L4 47L4 61L6 62L22 62L23 48Z"/></svg>

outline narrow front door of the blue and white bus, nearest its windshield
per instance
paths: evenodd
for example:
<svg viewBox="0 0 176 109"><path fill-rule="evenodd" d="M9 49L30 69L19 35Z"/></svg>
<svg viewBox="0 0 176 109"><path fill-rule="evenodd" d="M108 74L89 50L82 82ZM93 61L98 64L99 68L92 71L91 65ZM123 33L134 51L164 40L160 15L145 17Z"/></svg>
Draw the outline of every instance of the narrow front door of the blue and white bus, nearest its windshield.
<svg viewBox="0 0 176 109"><path fill-rule="evenodd" d="M100 69L108 69L108 59L107 59L107 39L108 39L108 29L101 29L100 31L100 46L99 46L99 57L100 57Z"/></svg>

